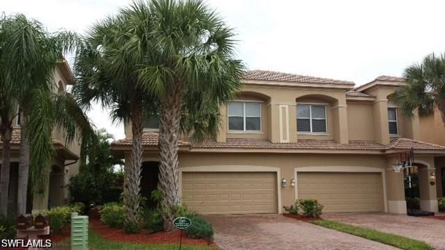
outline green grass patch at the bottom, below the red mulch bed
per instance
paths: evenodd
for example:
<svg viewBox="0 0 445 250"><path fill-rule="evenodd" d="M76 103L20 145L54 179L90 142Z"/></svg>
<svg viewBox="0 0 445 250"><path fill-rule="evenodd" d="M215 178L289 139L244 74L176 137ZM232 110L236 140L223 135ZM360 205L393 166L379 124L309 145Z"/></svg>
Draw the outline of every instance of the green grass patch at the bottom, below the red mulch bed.
<svg viewBox="0 0 445 250"><path fill-rule="evenodd" d="M111 242L100 237L95 231L90 230L88 233L89 249L92 250L177 250L179 244L136 244L132 242ZM182 246L184 250L211 250L211 247L195 247L195 246Z"/></svg>

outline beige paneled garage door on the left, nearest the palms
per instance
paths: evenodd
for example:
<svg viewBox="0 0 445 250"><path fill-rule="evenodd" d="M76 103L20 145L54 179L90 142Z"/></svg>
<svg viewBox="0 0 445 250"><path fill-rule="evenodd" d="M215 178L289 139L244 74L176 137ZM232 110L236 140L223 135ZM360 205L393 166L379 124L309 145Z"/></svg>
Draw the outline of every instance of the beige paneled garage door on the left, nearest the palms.
<svg viewBox="0 0 445 250"><path fill-rule="evenodd" d="M182 201L203 215L277 213L275 172L183 172Z"/></svg>

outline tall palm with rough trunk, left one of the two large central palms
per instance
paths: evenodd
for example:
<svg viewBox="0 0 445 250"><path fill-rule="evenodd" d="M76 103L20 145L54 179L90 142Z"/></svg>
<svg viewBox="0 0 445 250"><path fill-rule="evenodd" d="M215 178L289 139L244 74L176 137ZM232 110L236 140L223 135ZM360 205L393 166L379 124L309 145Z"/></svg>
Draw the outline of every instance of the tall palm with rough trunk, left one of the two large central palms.
<svg viewBox="0 0 445 250"><path fill-rule="evenodd" d="M129 19L123 11L95 24L84 38L74 63L73 93L86 108L95 102L110 108L113 122L131 122L133 147L125 173L124 204L125 223L134 227L140 222L143 117L156 108L156 103L138 84L136 69L143 63L145 48L127 48L131 37L127 35Z"/></svg>

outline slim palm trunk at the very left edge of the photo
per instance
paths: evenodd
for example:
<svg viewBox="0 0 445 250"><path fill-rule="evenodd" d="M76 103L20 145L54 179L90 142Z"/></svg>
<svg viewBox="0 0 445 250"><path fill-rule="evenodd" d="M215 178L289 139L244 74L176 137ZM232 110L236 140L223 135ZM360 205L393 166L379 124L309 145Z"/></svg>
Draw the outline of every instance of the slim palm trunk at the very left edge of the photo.
<svg viewBox="0 0 445 250"><path fill-rule="evenodd" d="M10 178L10 142L13 133L12 128L6 128L1 136L3 149L1 151L1 178L0 178L0 213L8 216L8 194Z"/></svg>

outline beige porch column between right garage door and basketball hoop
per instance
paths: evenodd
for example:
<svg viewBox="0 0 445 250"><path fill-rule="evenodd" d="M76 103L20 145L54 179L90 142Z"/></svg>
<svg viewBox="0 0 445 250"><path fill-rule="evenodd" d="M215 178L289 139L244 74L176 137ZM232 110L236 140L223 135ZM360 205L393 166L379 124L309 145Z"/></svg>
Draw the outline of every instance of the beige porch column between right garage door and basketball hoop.
<svg viewBox="0 0 445 250"><path fill-rule="evenodd" d="M396 157L387 159L386 180L387 180L387 199L388 212L396 214L406 214L405 184L403 182L403 172L394 172L390 167L396 163Z"/></svg>

